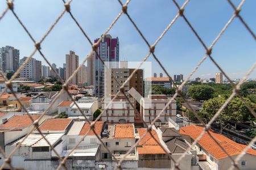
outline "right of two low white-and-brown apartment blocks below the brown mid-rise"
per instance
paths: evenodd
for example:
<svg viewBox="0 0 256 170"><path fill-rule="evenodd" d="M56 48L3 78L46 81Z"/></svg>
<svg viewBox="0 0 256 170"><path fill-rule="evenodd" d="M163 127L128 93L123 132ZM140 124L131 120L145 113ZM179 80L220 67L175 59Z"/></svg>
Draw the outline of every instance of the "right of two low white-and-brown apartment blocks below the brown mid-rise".
<svg viewBox="0 0 256 170"><path fill-rule="evenodd" d="M141 99L141 115L143 120L150 124L156 116L166 107L167 103L171 99L168 99L166 95L149 95ZM176 101L172 101L171 104L167 106L164 112L156 120L155 125L167 125L168 118L176 116Z"/></svg>

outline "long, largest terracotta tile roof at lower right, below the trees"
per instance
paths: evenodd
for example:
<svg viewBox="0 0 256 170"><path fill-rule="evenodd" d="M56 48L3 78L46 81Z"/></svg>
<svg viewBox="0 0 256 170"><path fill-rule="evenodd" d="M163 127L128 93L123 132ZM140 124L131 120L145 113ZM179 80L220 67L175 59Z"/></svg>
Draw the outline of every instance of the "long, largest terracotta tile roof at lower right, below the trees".
<svg viewBox="0 0 256 170"><path fill-rule="evenodd" d="M180 134L189 135L192 139L196 139L202 133L204 128L196 125L186 126L180 129ZM213 133L210 131L210 134L220 143L220 145L228 152L230 156L241 154L242 150L246 145L241 145L236 143L224 135ZM210 138L208 133L205 133L203 137L198 141L199 145L213 155L216 159L222 159L228 157L224 151ZM249 149L247 154L256 155L256 151Z"/></svg>

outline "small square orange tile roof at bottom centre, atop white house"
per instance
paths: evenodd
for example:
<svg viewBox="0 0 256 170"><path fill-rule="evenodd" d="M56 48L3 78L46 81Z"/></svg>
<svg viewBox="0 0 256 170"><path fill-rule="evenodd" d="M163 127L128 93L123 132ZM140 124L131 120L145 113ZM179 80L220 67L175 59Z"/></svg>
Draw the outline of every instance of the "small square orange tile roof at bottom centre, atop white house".
<svg viewBox="0 0 256 170"><path fill-rule="evenodd" d="M115 125L114 138L135 138L133 124Z"/></svg>

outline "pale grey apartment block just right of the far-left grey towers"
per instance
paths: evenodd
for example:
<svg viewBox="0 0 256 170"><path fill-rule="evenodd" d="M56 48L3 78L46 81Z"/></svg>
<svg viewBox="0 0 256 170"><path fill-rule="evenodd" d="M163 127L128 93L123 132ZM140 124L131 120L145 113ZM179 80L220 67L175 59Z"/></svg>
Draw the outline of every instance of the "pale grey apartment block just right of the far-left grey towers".
<svg viewBox="0 0 256 170"><path fill-rule="evenodd" d="M20 59L20 65L22 65L26 59L27 57ZM38 82L42 78L42 62L35 58L30 58L30 61L28 61L20 71L20 76Z"/></svg>

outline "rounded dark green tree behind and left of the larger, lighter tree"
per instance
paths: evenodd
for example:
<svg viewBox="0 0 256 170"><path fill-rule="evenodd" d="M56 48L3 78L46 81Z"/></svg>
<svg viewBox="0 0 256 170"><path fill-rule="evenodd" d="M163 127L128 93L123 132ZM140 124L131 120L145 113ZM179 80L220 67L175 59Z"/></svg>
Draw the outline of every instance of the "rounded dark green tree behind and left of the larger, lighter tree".
<svg viewBox="0 0 256 170"><path fill-rule="evenodd" d="M197 101L211 99L213 92L214 89L208 85L197 85L188 88L188 95Z"/></svg>

